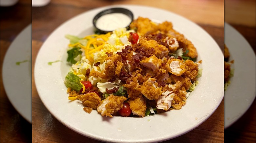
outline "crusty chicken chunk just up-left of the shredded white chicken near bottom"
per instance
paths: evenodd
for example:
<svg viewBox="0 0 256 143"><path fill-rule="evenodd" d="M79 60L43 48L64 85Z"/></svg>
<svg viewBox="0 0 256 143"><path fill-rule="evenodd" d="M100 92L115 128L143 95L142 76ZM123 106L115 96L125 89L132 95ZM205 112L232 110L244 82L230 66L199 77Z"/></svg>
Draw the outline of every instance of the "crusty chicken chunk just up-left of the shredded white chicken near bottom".
<svg viewBox="0 0 256 143"><path fill-rule="evenodd" d="M154 84L150 81L145 81L142 85L139 85L137 90L139 90L147 99L157 100L162 94L161 87L156 88Z"/></svg>

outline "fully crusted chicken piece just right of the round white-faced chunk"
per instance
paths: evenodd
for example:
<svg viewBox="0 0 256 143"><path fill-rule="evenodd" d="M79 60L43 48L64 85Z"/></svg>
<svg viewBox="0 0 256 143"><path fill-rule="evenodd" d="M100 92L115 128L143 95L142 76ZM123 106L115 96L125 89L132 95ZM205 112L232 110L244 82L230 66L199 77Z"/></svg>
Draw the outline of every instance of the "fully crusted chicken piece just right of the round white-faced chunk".
<svg viewBox="0 0 256 143"><path fill-rule="evenodd" d="M184 63L186 65L186 72L183 75L195 81L198 75L198 64L192 60L186 60Z"/></svg>

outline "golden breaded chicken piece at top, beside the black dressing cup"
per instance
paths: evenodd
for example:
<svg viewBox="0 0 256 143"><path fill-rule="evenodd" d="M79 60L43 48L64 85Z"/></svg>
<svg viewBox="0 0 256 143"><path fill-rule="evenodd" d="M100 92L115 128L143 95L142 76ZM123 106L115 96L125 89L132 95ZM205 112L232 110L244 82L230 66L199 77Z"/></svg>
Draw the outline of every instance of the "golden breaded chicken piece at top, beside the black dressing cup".
<svg viewBox="0 0 256 143"><path fill-rule="evenodd" d="M144 35L148 32L157 31L158 27L156 24L151 22L148 18L138 17L130 24L130 28L134 29L139 35Z"/></svg>

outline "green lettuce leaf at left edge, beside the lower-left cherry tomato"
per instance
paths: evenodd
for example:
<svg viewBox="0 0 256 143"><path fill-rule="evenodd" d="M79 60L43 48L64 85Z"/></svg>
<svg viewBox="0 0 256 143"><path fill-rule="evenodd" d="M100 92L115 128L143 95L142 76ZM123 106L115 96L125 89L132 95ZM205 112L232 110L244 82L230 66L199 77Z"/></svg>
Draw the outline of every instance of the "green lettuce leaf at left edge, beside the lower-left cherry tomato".
<svg viewBox="0 0 256 143"><path fill-rule="evenodd" d="M72 71L66 75L64 84L67 88L71 88L71 90L79 91L83 86L80 83L80 78L75 75Z"/></svg>

